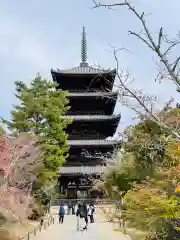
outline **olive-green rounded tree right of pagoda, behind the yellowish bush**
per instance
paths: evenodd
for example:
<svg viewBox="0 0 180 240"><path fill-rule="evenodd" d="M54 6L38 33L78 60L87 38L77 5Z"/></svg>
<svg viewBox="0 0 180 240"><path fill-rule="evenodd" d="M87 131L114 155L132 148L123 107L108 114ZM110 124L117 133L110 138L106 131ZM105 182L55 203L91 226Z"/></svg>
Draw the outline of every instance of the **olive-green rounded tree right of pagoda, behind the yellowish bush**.
<svg viewBox="0 0 180 240"><path fill-rule="evenodd" d="M165 156L163 130L152 120L142 121L125 130L126 141L120 163L105 175L104 187L116 199L126 194L162 166Z"/></svg>

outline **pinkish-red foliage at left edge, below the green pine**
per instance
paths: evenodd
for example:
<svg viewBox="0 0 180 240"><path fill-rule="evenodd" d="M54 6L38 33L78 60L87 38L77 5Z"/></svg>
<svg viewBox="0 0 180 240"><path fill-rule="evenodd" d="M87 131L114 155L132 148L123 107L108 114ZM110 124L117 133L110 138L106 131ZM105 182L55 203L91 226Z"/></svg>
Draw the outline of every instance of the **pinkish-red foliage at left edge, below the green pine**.
<svg viewBox="0 0 180 240"><path fill-rule="evenodd" d="M39 163L41 151L35 138L0 137L0 212L16 219L30 214L31 176Z"/></svg>

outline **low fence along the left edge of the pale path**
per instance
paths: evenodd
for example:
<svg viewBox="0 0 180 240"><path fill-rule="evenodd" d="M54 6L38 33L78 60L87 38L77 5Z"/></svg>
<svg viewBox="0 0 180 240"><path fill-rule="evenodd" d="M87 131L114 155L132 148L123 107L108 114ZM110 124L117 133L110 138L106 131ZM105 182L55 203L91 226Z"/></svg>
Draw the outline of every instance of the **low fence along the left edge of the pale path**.
<svg viewBox="0 0 180 240"><path fill-rule="evenodd" d="M50 217L48 217L48 221L44 221L45 219L41 219L40 224L35 227L32 231L27 232L26 235L24 235L23 237L18 237L18 240L30 240L30 238L32 236L36 236L37 232L41 232L42 229L46 229L47 227L49 227L51 224L54 224L54 218L52 215L50 215Z"/></svg>

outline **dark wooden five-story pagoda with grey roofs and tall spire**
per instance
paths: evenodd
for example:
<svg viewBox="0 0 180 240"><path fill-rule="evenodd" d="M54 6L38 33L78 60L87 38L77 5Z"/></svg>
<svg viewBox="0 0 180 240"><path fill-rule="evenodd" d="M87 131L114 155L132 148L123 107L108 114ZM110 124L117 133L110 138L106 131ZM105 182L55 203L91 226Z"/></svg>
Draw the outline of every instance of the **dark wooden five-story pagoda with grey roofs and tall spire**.
<svg viewBox="0 0 180 240"><path fill-rule="evenodd" d="M66 129L70 147L66 164L60 170L60 193L67 198L89 197L93 180L104 171L105 162L97 153L112 153L118 144L113 136L120 115L113 115L117 93L112 92L116 70L88 65L86 33L83 28L80 66L53 70L53 81L69 92L72 124Z"/></svg>

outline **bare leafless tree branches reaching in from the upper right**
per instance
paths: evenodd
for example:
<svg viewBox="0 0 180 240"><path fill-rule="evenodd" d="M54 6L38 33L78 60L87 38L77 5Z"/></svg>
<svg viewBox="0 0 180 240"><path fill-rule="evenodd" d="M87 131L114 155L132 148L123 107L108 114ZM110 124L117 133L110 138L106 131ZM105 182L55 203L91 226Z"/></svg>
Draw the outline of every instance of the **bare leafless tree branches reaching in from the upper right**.
<svg viewBox="0 0 180 240"><path fill-rule="evenodd" d="M111 9L112 7L117 7L117 6L127 7L128 10L131 11L139 19L139 21L142 25L142 29L143 29L143 32L141 31L141 33L136 33L133 31L129 31L129 33L131 35L136 36L143 43L145 43L145 45L148 46L148 48L150 48L153 52L155 52L157 54L157 56L160 58L160 62L163 63L163 65L164 65L164 68L159 72L161 79L164 77L170 78L171 80L173 80L173 82L178 87L178 89L180 89L180 78L179 78L180 56L177 57L177 59L173 63L170 63L169 60L167 59L167 55L168 55L169 51L172 48L174 48L177 44L180 43L180 39L169 41L166 38L166 36L164 35L162 27L159 30L158 39L156 40L155 38L153 38L153 36L147 26L144 12L142 14L138 13L138 11L132 6L130 1L124 0L124 1L120 1L119 3L112 3L112 4L101 4L100 2L97 3L95 0L93 2L94 2L94 8L108 7L109 9ZM142 33L144 33L145 38L142 37ZM168 46L168 48L165 51L162 50L163 40L165 41L165 43L170 44L170 46ZM148 99L145 95L139 94L137 91L132 90L130 87L128 87L127 79L130 78L130 75L127 74L125 76L125 75L123 75L122 71L120 72L117 52L118 52L118 50L113 48L113 55L114 55L114 59L116 61L117 78L119 80L119 86L118 86L119 98L121 99L122 104L130 107L140 117L145 117L145 118L150 117L156 123L158 123L161 127L165 128L166 130L171 132L173 134L173 136L179 141L180 140L179 129L174 128L173 126L169 126L167 123L163 122L163 119L161 119L159 117L157 112L153 112L154 104L151 102L152 99L150 99L150 98ZM127 103L124 102L124 96L134 99L136 101L137 105L129 106L128 102ZM148 102L148 100L149 100L149 102ZM138 109L138 105L140 107L140 111ZM145 114L142 114L141 110L144 110Z"/></svg>

